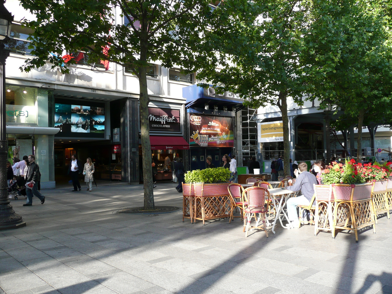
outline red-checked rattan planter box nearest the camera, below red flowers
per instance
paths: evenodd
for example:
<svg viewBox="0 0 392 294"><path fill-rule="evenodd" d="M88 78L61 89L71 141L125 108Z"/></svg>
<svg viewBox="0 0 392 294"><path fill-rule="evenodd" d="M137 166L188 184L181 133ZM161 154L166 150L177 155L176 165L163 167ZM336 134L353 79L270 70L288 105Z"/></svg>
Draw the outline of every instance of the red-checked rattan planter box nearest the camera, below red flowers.
<svg viewBox="0 0 392 294"><path fill-rule="evenodd" d="M376 234L371 196L372 185L373 183L332 184L335 195L332 238L335 238L336 229L353 230L355 241L358 243L358 230L370 225L373 226L373 232Z"/></svg>

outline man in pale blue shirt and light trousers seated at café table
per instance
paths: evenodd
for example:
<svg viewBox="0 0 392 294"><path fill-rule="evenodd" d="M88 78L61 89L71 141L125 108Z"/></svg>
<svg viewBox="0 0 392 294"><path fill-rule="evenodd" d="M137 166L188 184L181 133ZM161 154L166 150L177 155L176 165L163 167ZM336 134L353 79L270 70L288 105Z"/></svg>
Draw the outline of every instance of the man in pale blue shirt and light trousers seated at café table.
<svg viewBox="0 0 392 294"><path fill-rule="evenodd" d="M313 184L318 184L316 176L308 172L307 169L308 165L306 162L301 161L296 170L297 180L294 185L286 187L287 190L293 192L301 191L302 193L301 196L292 197L287 200L287 216L294 228L298 228L299 225L297 205L309 205L314 194Z"/></svg>

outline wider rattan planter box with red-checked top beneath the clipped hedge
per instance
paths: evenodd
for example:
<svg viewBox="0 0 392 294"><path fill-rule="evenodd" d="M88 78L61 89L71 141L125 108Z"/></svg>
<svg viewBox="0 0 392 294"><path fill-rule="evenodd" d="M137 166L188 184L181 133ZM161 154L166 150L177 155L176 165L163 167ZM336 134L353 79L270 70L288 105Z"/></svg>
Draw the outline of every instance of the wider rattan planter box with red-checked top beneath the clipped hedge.
<svg viewBox="0 0 392 294"><path fill-rule="evenodd" d="M216 184L194 183L195 201L193 220L229 218L231 211L231 197L227 187L229 182ZM199 212L200 213L197 213Z"/></svg>

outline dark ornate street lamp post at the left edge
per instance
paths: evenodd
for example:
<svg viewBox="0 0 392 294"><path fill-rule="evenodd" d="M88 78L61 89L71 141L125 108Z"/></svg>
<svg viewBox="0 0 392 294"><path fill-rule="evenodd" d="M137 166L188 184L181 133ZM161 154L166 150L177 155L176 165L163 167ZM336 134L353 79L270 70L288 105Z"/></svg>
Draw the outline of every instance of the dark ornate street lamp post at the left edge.
<svg viewBox="0 0 392 294"><path fill-rule="evenodd" d="M5 42L9 40L11 23L14 17L4 6L5 0L0 0L0 230L24 227L26 223L22 216L15 213L7 193L7 131L5 128L5 60L9 51L4 50Z"/></svg>

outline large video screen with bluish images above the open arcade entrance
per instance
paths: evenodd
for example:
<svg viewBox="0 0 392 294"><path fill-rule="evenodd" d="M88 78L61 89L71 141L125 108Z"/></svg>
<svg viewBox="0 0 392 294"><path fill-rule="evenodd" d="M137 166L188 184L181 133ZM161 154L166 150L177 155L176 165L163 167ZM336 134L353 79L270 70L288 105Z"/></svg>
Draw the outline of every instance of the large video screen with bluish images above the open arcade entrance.
<svg viewBox="0 0 392 294"><path fill-rule="evenodd" d="M88 137L94 136L94 134L102 134L103 136L105 134L105 108L91 105L55 103L54 127L60 129L57 136L78 136L76 133L84 134Z"/></svg>

